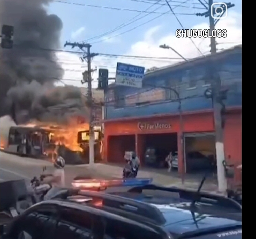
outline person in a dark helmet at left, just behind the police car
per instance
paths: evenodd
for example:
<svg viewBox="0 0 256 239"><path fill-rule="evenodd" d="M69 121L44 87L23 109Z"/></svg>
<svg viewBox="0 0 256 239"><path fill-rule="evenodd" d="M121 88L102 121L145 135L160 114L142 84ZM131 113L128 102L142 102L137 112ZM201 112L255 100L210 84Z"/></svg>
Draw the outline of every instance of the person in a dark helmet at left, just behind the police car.
<svg viewBox="0 0 256 239"><path fill-rule="evenodd" d="M41 181L41 184L50 184L52 188L44 196L44 200L49 200L54 196L61 188L65 187L65 160L61 156L57 156L53 161L55 167L52 176L47 176Z"/></svg>

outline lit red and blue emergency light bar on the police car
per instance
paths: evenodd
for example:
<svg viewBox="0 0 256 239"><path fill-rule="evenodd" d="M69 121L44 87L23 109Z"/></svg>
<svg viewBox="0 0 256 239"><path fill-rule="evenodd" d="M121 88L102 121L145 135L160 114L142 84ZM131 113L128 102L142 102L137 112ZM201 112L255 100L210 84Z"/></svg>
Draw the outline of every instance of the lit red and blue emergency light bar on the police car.
<svg viewBox="0 0 256 239"><path fill-rule="evenodd" d="M81 179L74 180L71 184L74 188L81 190L105 190L108 187L132 187L132 186L146 186L153 181L152 178L135 178L135 179Z"/></svg>

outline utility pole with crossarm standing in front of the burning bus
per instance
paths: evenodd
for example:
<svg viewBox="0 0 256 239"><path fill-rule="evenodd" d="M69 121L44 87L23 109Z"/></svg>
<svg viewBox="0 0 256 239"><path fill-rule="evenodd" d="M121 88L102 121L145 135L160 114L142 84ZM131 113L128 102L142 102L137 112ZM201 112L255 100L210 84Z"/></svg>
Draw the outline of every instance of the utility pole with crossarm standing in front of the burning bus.
<svg viewBox="0 0 256 239"><path fill-rule="evenodd" d="M89 107L89 166L92 167L94 165L94 127L93 127L93 99L92 99L92 72L94 70L91 69L91 60L94 56L97 56L97 53L91 53L91 45L90 44L81 44L81 43L70 43L66 42L64 47L66 46L79 47L82 51L86 48L84 56L82 57L87 61L87 71L83 72L82 84L88 83L88 92L87 92L87 104Z"/></svg>

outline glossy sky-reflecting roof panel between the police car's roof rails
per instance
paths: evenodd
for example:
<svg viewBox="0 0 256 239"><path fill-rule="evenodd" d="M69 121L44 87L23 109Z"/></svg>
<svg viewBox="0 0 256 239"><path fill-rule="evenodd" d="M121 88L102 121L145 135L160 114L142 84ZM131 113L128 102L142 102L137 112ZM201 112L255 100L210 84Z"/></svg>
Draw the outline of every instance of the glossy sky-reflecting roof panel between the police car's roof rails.
<svg viewBox="0 0 256 239"><path fill-rule="evenodd" d="M163 226L175 234L190 232L198 229L214 228L240 224L240 210L226 208L221 205L210 205L196 203L191 206L192 201L183 198L161 195L132 194L127 192L117 193L127 198L141 200L155 206L164 216L166 222Z"/></svg>

